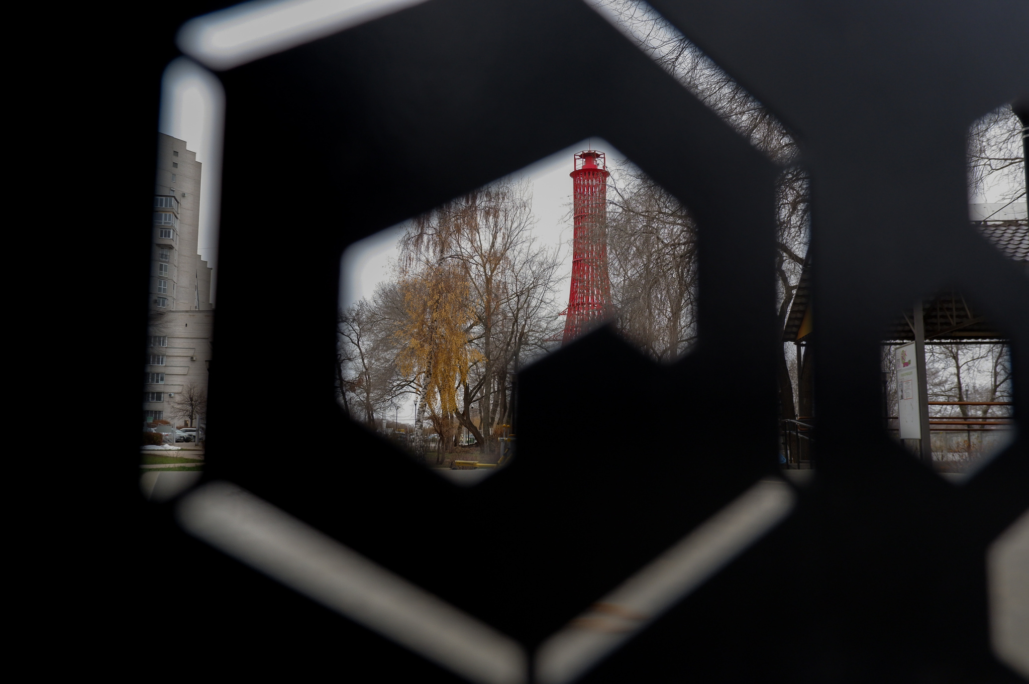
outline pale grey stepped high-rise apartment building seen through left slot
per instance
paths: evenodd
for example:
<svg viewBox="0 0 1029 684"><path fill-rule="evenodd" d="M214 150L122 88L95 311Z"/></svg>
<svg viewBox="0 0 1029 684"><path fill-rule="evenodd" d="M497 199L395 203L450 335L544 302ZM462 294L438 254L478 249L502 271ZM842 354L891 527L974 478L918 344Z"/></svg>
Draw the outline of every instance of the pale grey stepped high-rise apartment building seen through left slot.
<svg viewBox="0 0 1029 684"><path fill-rule="evenodd" d="M180 427L186 396L207 396L211 361L211 267L197 250L200 175L186 142L158 134L143 416Z"/></svg>

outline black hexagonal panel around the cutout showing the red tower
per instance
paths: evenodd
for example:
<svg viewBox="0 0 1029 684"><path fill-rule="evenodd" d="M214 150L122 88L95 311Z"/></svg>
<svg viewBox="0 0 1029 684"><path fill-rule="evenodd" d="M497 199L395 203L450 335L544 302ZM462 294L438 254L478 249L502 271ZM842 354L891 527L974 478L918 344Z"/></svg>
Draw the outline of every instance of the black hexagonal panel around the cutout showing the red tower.
<svg viewBox="0 0 1029 684"><path fill-rule="evenodd" d="M418 7L414 19L405 12L224 75L232 104L219 349L239 350L234 357L241 367L263 363L263 346L244 340L246 321L256 312L229 302L248 296L244 274L263 258L265 246L281 240L281 226L290 226L309 247L297 250L303 261L288 264L281 287L258 311L281 312L283 345L308 351L291 356L261 392L310 395L284 406L281 420L307 424L317 416L325 430L295 433L294 448L320 455L315 477L307 467L276 468L282 457L274 453L236 457L216 430L209 441L212 474L240 482L528 643L553 634L775 462L767 418L775 406L773 366L762 363L772 358L774 292L773 282L761 277L772 259L775 170L588 8L570 4L562 11L546 4L545 11L598 40L606 36L616 77L596 72L595 59L580 57L575 41L540 36L531 12L457 2ZM481 73L489 62L485 55L508 55L520 44L542 52L535 62L541 71L516 62L497 74ZM583 84L591 65L594 80ZM603 93L611 103L599 120L576 115L575 94L582 89ZM640 106L662 100L674 104ZM473 113L469 101L476 105ZM295 104L283 108L280 102ZM322 312L335 310L332 284L342 247L590 135L608 139L710 226L702 239L711 258L701 288L736 301L732 309L714 297L702 303L701 335L712 331L717 344L702 341L671 371L608 333L541 362L521 384L517 462L470 491L439 481L369 436L349 436L360 428L331 401L331 366L322 356L334 345L334 319ZM253 223L233 207L252 194L246 170L271 151L254 145L256 139L288 141L278 154L290 159L290 169L265 197L265 221L256 228L263 235L254 240ZM669 149L688 159L686 177ZM719 208L734 201L739 206L741 189L751 211L725 218ZM292 314L298 299L303 317ZM766 331L757 343L755 326ZM747 381L724 384L729 367ZM321 402L309 389L316 377L328 382L318 390ZM224 381L212 382L214 425L232 408L218 399L230 391L220 385ZM646 465L634 462L636 431L611 430L612 419L645 425L655 407L683 420L700 416L712 399L753 406L753 419L742 429L713 426L708 442L688 449L676 433L657 437L645 447ZM722 429L733 430L738 442L736 454L717 458ZM369 458L380 452L381 459ZM396 462L387 463L391 459ZM379 509L374 514L369 502ZM428 519L412 526L405 521L412 511ZM355 519L362 523L355 526ZM473 539L427 534L429 519L467 523L476 532ZM426 563L429 557L435 561ZM460 573L485 568L483 579L504 590L468 592L456 581Z"/></svg>

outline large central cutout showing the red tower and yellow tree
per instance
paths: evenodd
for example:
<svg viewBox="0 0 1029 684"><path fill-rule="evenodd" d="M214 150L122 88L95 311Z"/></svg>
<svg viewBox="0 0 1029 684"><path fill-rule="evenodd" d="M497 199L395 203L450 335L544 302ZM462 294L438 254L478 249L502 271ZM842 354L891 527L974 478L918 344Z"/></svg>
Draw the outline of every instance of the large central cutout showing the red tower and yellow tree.
<svg viewBox="0 0 1029 684"><path fill-rule="evenodd" d="M657 361L696 338L696 225L596 139L355 243L341 272L341 404L464 483L513 454L521 367L608 323Z"/></svg>

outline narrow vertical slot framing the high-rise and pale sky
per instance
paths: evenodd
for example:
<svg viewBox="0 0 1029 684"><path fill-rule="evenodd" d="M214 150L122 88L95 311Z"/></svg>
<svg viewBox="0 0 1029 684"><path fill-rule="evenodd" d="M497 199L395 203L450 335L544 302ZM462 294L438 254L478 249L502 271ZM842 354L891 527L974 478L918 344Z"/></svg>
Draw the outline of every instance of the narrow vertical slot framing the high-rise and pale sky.
<svg viewBox="0 0 1029 684"><path fill-rule="evenodd" d="M162 79L156 140L140 487L163 501L192 487L205 463L213 358L221 164L221 82L186 58ZM180 287L181 286L181 287Z"/></svg>

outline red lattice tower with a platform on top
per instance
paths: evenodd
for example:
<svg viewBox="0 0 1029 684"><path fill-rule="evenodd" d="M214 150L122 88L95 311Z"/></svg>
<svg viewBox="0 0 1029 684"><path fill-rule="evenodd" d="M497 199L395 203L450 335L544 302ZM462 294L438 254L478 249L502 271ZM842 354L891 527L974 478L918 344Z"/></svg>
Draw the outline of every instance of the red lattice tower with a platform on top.
<svg viewBox="0 0 1029 684"><path fill-rule="evenodd" d="M607 276L607 163L603 152L587 150L575 155L574 240L572 285L564 311L569 341L606 320L612 312L611 281Z"/></svg>

